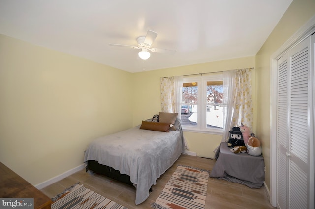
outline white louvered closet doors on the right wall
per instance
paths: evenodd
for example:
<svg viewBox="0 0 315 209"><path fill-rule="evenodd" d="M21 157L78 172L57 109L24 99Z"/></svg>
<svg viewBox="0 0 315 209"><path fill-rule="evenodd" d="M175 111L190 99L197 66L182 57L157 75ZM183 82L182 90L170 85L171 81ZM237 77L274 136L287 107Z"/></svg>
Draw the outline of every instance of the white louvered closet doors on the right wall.
<svg viewBox="0 0 315 209"><path fill-rule="evenodd" d="M277 59L277 208L314 208L315 35Z"/></svg>

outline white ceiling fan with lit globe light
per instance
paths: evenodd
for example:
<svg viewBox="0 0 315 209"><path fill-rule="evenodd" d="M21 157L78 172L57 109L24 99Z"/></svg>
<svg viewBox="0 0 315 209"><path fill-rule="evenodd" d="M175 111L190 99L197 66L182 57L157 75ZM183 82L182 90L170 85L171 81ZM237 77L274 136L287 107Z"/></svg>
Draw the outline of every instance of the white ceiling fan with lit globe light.
<svg viewBox="0 0 315 209"><path fill-rule="evenodd" d="M131 47L133 49L141 49L141 51L138 53L139 57L143 60L146 60L150 57L150 52L157 52L157 53L167 53L167 54L173 54L176 51L175 50L167 50L167 49L160 49L160 48L152 48L152 43L157 38L158 33L148 30L146 36L140 36L137 38L138 46L130 46L130 45L124 45L124 44L109 44L110 46L118 46L118 47Z"/></svg>

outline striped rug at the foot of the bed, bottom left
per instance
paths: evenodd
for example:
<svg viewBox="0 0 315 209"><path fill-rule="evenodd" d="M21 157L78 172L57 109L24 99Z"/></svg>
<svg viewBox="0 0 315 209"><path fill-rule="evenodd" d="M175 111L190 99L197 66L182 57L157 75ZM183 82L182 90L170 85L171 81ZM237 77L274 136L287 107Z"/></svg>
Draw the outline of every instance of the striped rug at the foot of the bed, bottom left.
<svg viewBox="0 0 315 209"><path fill-rule="evenodd" d="M78 183L52 198L51 209L127 209Z"/></svg>

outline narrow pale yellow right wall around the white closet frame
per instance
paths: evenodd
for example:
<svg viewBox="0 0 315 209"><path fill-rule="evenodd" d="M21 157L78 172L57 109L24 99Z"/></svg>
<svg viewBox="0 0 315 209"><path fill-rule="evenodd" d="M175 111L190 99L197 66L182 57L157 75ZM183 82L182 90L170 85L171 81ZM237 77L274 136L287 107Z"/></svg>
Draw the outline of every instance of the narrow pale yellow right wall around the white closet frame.
<svg viewBox="0 0 315 209"><path fill-rule="evenodd" d="M278 25L256 55L257 135L262 141L266 166L265 182L270 188L270 58L301 26L315 15L315 0L293 0Z"/></svg>

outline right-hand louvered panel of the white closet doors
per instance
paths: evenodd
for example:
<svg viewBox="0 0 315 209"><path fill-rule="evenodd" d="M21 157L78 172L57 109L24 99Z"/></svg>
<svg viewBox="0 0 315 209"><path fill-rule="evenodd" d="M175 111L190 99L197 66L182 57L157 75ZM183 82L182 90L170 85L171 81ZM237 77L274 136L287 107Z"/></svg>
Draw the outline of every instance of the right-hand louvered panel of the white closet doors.
<svg viewBox="0 0 315 209"><path fill-rule="evenodd" d="M289 52L289 187L291 209L308 208L308 81L310 71L310 38ZM314 197L313 197L314 198Z"/></svg>

